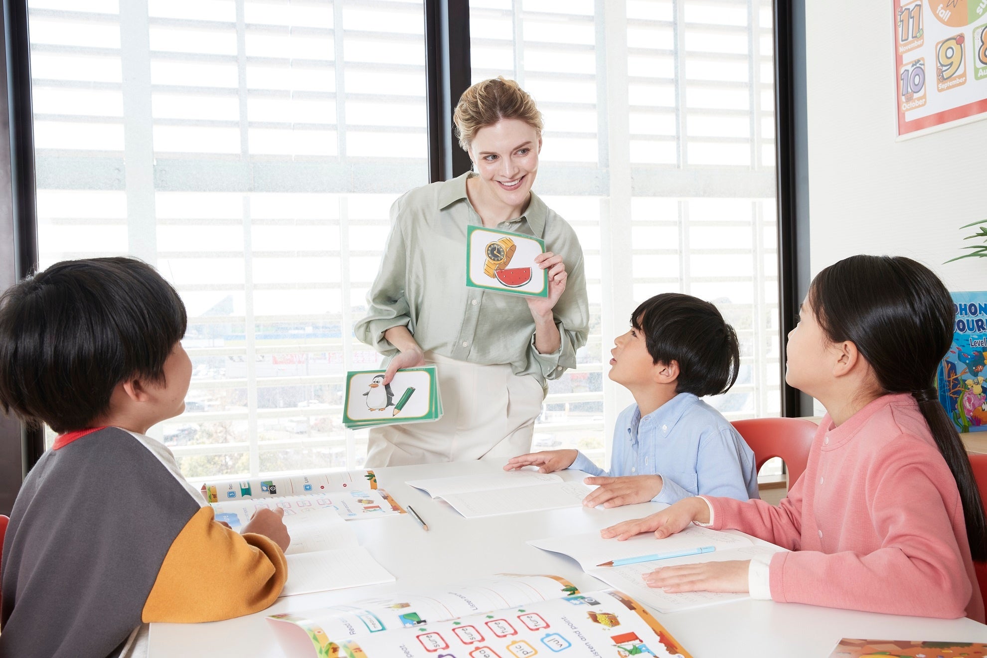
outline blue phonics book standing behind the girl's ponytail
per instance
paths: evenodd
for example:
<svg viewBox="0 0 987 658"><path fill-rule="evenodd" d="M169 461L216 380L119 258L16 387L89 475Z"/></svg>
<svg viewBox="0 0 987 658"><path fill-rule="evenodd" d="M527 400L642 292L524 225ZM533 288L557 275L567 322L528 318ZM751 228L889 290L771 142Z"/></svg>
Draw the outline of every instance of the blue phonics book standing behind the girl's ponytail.
<svg viewBox="0 0 987 658"><path fill-rule="evenodd" d="M987 431L987 292L953 292L952 344L939 366L939 402L957 432Z"/></svg>

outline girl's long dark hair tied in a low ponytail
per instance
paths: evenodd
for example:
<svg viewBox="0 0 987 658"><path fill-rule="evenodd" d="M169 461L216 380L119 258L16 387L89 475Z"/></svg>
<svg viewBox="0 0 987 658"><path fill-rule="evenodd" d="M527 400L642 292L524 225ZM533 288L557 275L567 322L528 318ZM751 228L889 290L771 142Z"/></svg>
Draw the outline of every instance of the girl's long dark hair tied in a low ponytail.
<svg viewBox="0 0 987 658"><path fill-rule="evenodd" d="M903 256L851 256L812 281L808 303L833 342L850 340L884 393L910 393L956 478L973 559L987 559L987 523L969 458L936 394L952 343L952 300L939 277Z"/></svg>

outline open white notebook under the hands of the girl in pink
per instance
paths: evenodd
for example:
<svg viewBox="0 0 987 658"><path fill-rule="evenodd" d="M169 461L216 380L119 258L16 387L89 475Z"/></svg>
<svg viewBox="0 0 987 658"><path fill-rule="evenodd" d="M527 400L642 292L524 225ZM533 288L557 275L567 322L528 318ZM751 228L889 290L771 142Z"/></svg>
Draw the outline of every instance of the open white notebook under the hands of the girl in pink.
<svg viewBox="0 0 987 658"><path fill-rule="evenodd" d="M731 559L770 559L771 555L785 548L754 544L749 538L699 526L689 526L681 533L657 540L651 533L632 537L626 542L605 540L597 533L531 540L533 547L569 555L582 570L599 578L611 587L619 588L647 606L662 613L673 613L690 608L712 606L728 601L750 598L748 594L723 594L719 592L682 592L669 594L660 588L645 585L643 576L659 566L691 564L693 562L721 562ZM708 548L712 547L712 550ZM655 560L602 566L602 564L643 555L688 552L707 548L704 552L666 557Z"/></svg>

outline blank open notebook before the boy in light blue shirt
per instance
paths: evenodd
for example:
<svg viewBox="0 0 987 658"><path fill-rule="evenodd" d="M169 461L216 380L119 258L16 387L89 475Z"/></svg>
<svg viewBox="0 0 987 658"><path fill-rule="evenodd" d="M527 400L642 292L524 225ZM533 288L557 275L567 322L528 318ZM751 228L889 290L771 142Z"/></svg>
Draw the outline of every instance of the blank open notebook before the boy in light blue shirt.
<svg viewBox="0 0 987 658"><path fill-rule="evenodd" d="M582 482L535 471L416 479L407 484L445 500L467 519L578 507L592 491Z"/></svg>

